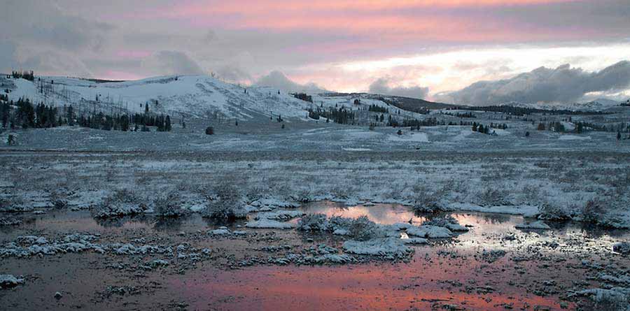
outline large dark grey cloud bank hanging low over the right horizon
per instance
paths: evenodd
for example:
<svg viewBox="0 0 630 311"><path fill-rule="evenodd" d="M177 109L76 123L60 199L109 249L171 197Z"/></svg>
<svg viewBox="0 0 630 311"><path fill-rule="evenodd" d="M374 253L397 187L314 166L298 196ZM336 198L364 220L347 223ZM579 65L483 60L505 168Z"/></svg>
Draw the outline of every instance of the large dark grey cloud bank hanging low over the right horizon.
<svg viewBox="0 0 630 311"><path fill-rule="evenodd" d="M630 87L630 62L618 62L601 71L562 65L540 67L514 78L479 81L457 92L437 96L438 100L459 104L572 103L589 92L610 92Z"/></svg>

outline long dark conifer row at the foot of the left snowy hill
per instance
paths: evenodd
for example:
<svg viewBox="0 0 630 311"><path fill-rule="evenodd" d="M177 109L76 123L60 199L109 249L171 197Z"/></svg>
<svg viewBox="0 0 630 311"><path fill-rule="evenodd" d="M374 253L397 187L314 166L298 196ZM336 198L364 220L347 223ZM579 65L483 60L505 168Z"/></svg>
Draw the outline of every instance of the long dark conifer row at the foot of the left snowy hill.
<svg viewBox="0 0 630 311"><path fill-rule="evenodd" d="M73 106L64 106L62 111L55 106L39 103L34 105L29 99L18 99L4 101L0 105L0 116L3 128L22 127L48 128L62 125L89 127L90 129L102 129L106 131L149 131L148 126L157 126L158 131L171 131L171 117L169 115L148 115L148 114L112 114L102 112L92 112L89 114L76 115ZM135 125L132 129L132 125ZM140 127L142 126L142 127Z"/></svg>

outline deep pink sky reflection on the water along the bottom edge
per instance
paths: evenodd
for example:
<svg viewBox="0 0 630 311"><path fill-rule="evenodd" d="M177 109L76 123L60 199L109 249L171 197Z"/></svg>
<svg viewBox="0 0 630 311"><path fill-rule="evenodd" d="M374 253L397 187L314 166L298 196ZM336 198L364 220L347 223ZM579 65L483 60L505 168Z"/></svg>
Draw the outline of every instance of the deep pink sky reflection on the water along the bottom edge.
<svg viewBox="0 0 630 311"><path fill-rule="evenodd" d="M465 266L465 268L463 268ZM477 273L479 263L447 259L362 266L257 267L204 270L172 280L169 290L182 291L193 309L221 310L428 310L435 303L462 305L466 310L505 310L528 305L557 308L557 297L526 294L507 287L510 273L489 277ZM544 277L544 275L542 276ZM492 284L494 293L466 292L444 280Z"/></svg>

